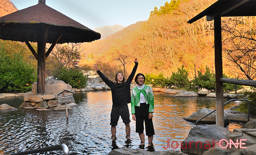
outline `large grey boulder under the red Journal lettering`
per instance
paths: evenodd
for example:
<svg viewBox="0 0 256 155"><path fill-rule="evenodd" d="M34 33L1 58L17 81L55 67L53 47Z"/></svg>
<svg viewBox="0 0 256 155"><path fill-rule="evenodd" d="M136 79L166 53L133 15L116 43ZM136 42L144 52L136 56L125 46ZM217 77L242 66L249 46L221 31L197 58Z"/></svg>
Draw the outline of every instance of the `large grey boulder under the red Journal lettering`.
<svg viewBox="0 0 256 155"><path fill-rule="evenodd" d="M216 124L195 126L189 131L187 138L182 142L181 151L187 154L203 154L209 148L213 148L216 141L229 139L229 133L228 129Z"/></svg>

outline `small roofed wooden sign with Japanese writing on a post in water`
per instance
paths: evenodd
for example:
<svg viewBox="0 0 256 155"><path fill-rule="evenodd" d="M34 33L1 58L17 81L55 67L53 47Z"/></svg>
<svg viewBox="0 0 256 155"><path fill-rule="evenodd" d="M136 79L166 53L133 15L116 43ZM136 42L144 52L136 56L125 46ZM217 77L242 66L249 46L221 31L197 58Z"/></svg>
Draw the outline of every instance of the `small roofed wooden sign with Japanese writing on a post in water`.
<svg viewBox="0 0 256 155"><path fill-rule="evenodd" d="M58 102L61 103L65 103L66 106L66 115L67 115L67 120L68 120L68 108L67 108L67 102L73 100L73 92L72 91L68 91L68 90L63 90L61 92L59 92L57 94L58 96Z"/></svg>

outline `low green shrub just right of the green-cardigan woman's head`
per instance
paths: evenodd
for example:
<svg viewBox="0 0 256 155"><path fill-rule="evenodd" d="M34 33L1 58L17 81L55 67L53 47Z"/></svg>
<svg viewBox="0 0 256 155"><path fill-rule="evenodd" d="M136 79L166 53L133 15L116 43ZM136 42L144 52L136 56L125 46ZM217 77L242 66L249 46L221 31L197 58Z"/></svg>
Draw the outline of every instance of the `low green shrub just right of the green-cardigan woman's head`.
<svg viewBox="0 0 256 155"><path fill-rule="evenodd" d="M164 81L166 79L163 76L163 73L160 74L147 74L145 75L145 84L146 85L152 85L153 87L158 86L158 87L163 87L164 86Z"/></svg>

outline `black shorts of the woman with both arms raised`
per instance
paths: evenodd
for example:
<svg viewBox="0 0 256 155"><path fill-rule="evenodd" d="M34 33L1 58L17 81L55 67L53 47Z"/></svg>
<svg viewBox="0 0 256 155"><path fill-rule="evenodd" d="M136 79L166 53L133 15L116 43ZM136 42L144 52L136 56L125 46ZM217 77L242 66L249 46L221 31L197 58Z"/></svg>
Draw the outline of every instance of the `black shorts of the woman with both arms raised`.
<svg viewBox="0 0 256 155"><path fill-rule="evenodd" d="M130 123L130 113L128 105L122 105L117 107L112 107L110 114L110 125L117 126L117 122L119 120L119 116L121 116L123 123Z"/></svg>

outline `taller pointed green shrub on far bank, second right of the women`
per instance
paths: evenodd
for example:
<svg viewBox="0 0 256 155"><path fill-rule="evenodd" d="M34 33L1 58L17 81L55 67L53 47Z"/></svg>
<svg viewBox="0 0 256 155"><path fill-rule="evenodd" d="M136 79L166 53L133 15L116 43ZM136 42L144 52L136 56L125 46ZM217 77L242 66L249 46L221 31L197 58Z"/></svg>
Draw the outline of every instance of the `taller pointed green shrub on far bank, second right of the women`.
<svg viewBox="0 0 256 155"><path fill-rule="evenodd" d="M176 87L176 88L188 88L190 83L188 81L188 71L184 69L184 65L181 66L181 69L178 68L176 73L172 73L171 77L167 77L165 82L167 87Z"/></svg>

